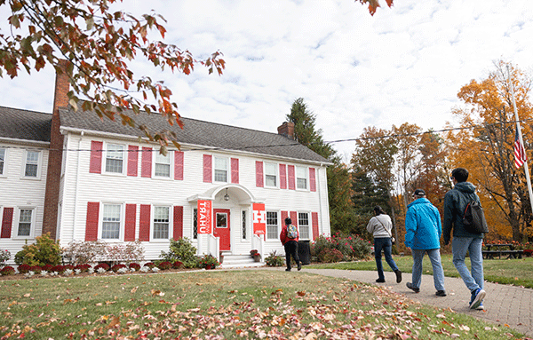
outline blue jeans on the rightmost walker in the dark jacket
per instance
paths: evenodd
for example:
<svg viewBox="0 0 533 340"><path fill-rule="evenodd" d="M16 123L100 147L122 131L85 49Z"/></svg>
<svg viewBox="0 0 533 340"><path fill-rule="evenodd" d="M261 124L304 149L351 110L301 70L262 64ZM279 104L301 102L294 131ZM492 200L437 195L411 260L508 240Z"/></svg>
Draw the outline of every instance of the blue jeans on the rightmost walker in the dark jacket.
<svg viewBox="0 0 533 340"><path fill-rule="evenodd" d="M483 255L481 253L481 243L483 239L472 237L454 237L451 241L451 251L453 252L453 265L457 272L465 281L465 285L472 292L475 289L483 289ZM471 270L465 265L466 251L470 254Z"/></svg>

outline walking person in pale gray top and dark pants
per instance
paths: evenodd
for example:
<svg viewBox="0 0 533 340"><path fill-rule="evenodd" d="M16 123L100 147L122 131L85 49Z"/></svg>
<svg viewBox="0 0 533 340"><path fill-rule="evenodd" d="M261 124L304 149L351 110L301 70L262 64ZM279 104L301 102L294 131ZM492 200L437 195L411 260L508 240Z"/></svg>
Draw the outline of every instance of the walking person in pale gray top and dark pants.
<svg viewBox="0 0 533 340"><path fill-rule="evenodd" d="M378 267L378 280L376 282L385 282L383 264L381 263L381 250L383 250L386 263L396 274L396 283L400 283L402 282L402 272L393 259L393 221L378 205L374 208L374 214L376 216L370 218L367 231L374 237L374 257Z"/></svg>

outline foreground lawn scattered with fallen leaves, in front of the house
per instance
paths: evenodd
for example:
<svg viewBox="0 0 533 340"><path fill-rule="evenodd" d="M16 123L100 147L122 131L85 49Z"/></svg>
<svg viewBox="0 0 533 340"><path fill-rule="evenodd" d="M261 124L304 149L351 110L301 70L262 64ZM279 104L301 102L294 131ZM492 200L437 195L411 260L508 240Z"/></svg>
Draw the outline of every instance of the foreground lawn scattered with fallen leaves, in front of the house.
<svg viewBox="0 0 533 340"><path fill-rule="evenodd" d="M269 270L0 281L0 311L2 339L521 336L380 287Z"/></svg>

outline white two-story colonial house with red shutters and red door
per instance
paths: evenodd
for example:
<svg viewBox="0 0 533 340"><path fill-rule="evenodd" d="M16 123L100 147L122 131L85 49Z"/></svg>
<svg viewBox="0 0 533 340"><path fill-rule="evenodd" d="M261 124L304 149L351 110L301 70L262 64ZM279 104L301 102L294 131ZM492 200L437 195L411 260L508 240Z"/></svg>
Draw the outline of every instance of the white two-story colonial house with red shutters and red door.
<svg viewBox="0 0 533 340"><path fill-rule="evenodd" d="M284 254L285 217L300 240L330 234L330 162L291 123L269 133L182 118L181 130L141 113L137 123L177 134L163 155L138 129L68 109L65 83L52 115L0 107L0 249L12 256L42 233L63 247L139 240L148 260L179 237L199 255Z"/></svg>

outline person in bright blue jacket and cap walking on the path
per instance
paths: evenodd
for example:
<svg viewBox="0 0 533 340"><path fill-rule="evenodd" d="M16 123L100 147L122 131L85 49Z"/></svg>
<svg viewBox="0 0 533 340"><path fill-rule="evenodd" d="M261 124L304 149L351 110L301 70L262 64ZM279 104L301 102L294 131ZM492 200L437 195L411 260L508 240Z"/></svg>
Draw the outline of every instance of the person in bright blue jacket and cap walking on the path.
<svg viewBox="0 0 533 340"><path fill-rule="evenodd" d="M415 190L415 201L407 206L405 216L405 246L411 249L413 255L412 283L407 282L407 288L415 293L420 291L422 281L422 260L427 253L433 266L434 285L437 297L446 297L444 289L444 271L441 263L442 224L441 214L434 205L426 199L422 189Z"/></svg>

